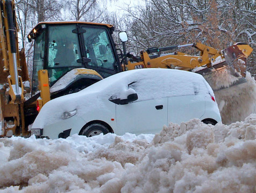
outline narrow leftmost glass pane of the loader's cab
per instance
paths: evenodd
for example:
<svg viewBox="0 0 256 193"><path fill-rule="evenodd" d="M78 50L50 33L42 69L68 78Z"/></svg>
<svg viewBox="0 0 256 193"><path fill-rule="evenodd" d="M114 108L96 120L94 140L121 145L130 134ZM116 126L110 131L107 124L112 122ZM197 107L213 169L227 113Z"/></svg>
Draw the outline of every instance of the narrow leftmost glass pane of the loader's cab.
<svg viewBox="0 0 256 193"><path fill-rule="evenodd" d="M42 32L34 40L34 65L32 75L32 95L36 94L38 88L39 70L44 69L44 53L45 53L45 32Z"/></svg>

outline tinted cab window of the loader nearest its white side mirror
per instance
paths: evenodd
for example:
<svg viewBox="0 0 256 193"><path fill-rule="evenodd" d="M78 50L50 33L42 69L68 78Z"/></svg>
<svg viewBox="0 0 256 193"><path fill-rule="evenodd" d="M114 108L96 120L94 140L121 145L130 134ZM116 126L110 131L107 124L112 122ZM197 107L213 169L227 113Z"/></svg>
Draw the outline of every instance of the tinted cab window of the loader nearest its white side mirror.
<svg viewBox="0 0 256 193"><path fill-rule="evenodd" d="M114 70L115 55L105 28L83 27L87 57L91 59L88 65L91 68ZM103 76L104 77L104 76Z"/></svg>

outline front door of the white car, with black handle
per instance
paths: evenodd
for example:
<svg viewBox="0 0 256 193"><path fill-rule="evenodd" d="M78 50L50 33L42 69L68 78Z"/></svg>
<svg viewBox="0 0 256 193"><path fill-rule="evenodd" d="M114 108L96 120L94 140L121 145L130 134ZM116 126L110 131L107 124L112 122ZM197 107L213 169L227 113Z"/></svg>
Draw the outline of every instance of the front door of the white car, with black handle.
<svg viewBox="0 0 256 193"><path fill-rule="evenodd" d="M141 79L128 85L128 88L133 88L138 94L138 100L126 105L116 105L117 128L123 133L154 134L160 132L163 125L167 125L167 98L163 95L155 98L154 93L158 90L151 92L152 85L144 84L145 81Z"/></svg>

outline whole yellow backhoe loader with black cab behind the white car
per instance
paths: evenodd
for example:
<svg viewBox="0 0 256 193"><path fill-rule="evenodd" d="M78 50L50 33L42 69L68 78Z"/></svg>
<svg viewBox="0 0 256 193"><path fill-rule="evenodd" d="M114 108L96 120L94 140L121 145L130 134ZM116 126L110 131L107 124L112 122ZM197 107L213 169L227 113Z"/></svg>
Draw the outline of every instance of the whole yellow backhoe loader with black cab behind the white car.
<svg viewBox="0 0 256 193"><path fill-rule="evenodd" d="M208 76L210 85L214 87L218 78L212 79L215 77L211 76L212 73L229 69L232 84L243 83L246 58L252 51L243 43L222 51L193 43L149 48L137 57L126 53L125 42L128 38L125 32L119 33L123 51L116 48L112 38L115 28L112 25L80 21L41 22L27 36L29 41L34 42L30 81L24 50L18 52L14 0L1 0L0 3L1 137L29 136L29 125L47 101L80 91L123 70L170 68L195 71ZM198 49L200 55L190 56L178 51L188 46ZM161 54L173 49L176 49L174 53ZM216 85L216 89L230 86ZM25 98L27 94L31 96Z"/></svg>

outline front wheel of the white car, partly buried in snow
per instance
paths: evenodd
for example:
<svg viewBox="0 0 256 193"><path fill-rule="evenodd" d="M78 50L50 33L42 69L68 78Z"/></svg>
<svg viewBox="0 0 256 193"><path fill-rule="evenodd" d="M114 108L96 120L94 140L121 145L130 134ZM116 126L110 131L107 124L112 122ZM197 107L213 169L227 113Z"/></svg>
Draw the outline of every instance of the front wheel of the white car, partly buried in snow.
<svg viewBox="0 0 256 193"><path fill-rule="evenodd" d="M106 133L109 133L109 132L110 132L109 129L105 125L100 123L92 123L90 125L87 125L87 127L81 131L81 135L87 136L87 137L93 137L101 133L105 135Z"/></svg>

